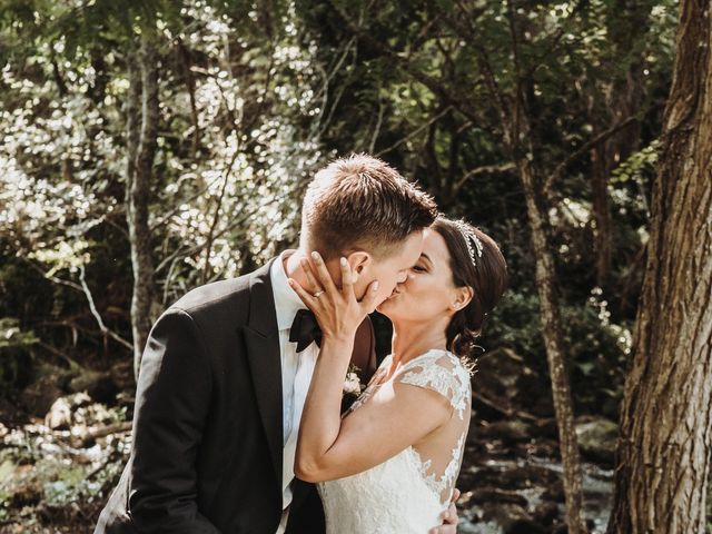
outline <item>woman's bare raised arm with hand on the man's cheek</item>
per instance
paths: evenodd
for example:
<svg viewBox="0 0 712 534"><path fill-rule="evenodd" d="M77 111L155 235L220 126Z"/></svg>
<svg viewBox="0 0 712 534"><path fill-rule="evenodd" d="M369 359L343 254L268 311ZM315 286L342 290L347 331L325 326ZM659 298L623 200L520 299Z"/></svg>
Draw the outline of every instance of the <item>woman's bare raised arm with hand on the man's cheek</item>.
<svg viewBox="0 0 712 534"><path fill-rule="evenodd" d="M295 461L295 474L307 482L353 475L378 465L419 442L445 423L452 407L435 392L407 384L386 384L359 409L340 418L343 385L354 344L354 333L372 310L370 287L358 303L353 294L353 273L342 264L342 289L337 289L323 261L315 258L319 297L294 289L315 313L323 329L319 357L304 406ZM305 271L309 274L308 266ZM310 276L310 275L309 275Z"/></svg>

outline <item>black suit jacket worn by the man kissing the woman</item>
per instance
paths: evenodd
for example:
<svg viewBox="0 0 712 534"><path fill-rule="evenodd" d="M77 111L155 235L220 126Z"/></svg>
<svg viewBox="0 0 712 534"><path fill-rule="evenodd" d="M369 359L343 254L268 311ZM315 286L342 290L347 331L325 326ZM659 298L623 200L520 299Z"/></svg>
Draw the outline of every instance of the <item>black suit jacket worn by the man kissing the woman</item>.
<svg viewBox="0 0 712 534"><path fill-rule="evenodd" d="M270 265L194 289L154 325L131 455L95 534L276 532L283 399ZM367 380L376 364L368 319L353 362ZM293 490L287 532L324 532L314 485Z"/></svg>

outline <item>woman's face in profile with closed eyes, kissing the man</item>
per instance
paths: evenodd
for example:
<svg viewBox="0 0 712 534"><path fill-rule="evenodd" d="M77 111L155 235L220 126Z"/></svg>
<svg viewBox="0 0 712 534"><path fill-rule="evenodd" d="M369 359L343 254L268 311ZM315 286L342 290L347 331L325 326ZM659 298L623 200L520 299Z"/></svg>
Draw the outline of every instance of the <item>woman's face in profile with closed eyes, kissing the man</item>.
<svg viewBox="0 0 712 534"><path fill-rule="evenodd" d="M426 229L421 257L377 309L390 320L427 322L451 317L463 297L463 288L453 284L445 239L437 231Z"/></svg>

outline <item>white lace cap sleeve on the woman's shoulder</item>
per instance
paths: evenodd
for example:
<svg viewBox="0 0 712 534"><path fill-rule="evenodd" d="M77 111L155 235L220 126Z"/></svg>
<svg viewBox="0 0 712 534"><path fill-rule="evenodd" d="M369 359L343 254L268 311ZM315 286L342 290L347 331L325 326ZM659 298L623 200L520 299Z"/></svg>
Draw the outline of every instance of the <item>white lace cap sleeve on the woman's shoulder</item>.
<svg viewBox="0 0 712 534"><path fill-rule="evenodd" d="M462 419L471 397L469 372L459 359L444 350L431 350L408 362L395 378L436 392L449 400Z"/></svg>

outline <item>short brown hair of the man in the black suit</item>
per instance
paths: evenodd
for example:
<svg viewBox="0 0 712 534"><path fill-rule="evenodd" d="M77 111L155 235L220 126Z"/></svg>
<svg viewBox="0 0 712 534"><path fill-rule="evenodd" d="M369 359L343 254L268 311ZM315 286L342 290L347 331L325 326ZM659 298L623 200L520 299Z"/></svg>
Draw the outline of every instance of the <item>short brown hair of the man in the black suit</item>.
<svg viewBox="0 0 712 534"><path fill-rule="evenodd" d="M330 162L309 184L301 208L303 246L326 259L354 250L383 258L436 216L433 199L388 164L352 155Z"/></svg>

